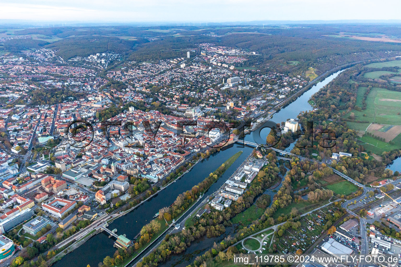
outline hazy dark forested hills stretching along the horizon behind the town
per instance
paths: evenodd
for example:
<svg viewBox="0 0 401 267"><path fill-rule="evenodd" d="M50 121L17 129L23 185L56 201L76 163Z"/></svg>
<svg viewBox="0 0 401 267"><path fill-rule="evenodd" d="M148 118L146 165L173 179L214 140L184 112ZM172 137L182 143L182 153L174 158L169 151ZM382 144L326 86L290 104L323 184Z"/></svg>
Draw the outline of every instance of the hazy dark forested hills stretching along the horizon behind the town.
<svg viewBox="0 0 401 267"><path fill-rule="evenodd" d="M7 32L7 30L1 30ZM35 48L58 50L59 56L106 51L143 62L186 56L202 42L259 53L240 66L263 65L288 72L314 68L316 75L359 60L396 56L401 52L397 24L300 24L251 26L91 26L26 28L7 33L31 38L4 40L0 48L16 52ZM199 52L197 50L197 52ZM291 62L298 62L291 64Z"/></svg>

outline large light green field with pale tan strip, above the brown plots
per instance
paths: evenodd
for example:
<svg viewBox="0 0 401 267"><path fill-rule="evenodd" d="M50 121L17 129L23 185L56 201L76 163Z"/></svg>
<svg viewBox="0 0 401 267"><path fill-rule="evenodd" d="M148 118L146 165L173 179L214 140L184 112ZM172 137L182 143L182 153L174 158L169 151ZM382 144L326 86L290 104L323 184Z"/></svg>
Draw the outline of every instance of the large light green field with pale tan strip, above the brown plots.
<svg viewBox="0 0 401 267"><path fill-rule="evenodd" d="M358 90L358 95L363 90ZM352 110L356 120L365 120L379 124L400 125L401 92L390 91L385 88L373 87L366 100L365 110ZM363 116L365 114L365 116ZM349 118L350 113L346 115Z"/></svg>

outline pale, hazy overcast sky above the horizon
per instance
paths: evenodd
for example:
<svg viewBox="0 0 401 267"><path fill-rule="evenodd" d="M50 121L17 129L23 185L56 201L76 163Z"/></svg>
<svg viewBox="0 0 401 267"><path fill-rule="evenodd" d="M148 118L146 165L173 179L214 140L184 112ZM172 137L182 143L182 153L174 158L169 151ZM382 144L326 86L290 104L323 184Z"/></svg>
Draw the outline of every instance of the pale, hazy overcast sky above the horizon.
<svg viewBox="0 0 401 267"><path fill-rule="evenodd" d="M0 20L235 22L399 19L399 0L1 0ZM389 10L394 10L391 12Z"/></svg>

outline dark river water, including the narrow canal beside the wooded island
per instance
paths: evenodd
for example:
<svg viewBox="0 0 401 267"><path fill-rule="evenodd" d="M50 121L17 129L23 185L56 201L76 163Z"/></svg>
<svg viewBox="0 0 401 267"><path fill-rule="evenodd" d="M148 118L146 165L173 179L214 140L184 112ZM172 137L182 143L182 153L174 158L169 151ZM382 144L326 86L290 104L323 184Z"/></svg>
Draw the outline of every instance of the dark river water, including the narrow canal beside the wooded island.
<svg viewBox="0 0 401 267"><path fill-rule="evenodd" d="M286 121L288 118L296 118L301 111L311 110L312 107L308 104L308 100L312 94L320 90L324 85L328 84L331 80L333 80L339 73L336 72L322 82L312 86L311 89L304 92L297 100L279 110L273 114L271 121L276 123L280 123L282 121ZM257 132L257 131L255 131ZM245 141L255 142L259 144L266 143L266 137L270 132L269 128L263 128L260 130L259 134L246 135ZM290 146L286 150L290 150L292 147ZM182 176L175 183L172 183L168 188L164 189L156 196L152 197L130 213L125 216L122 216L115 221L113 221L109 228L114 229L117 228L117 234L122 235L126 234L127 238L134 239L134 237L139 233L142 226L149 223L152 220L152 217L155 213L159 211L162 207L166 207L171 205L176 197L191 189L194 185L203 181L209 173L215 171L221 164L223 164L227 159L229 159L232 155L237 153L238 151L243 151L241 156L235 161L233 165L218 179L216 183L214 183L209 190L205 193L204 197L207 197L221 185L235 172L239 165L249 156L252 152L252 149L249 147L242 147L241 145L234 144L231 147L220 151L219 153L215 153L211 155L209 158L204 159L202 162L198 163L196 166L192 168L192 170ZM278 190L277 187L276 190ZM194 209L197 205L194 205L192 209ZM184 218L182 218L184 219ZM178 221L179 223L180 221ZM230 227L231 229L231 227ZM231 230L230 230L231 231ZM163 238L162 236L161 238ZM159 238L154 244L158 243L161 239ZM221 240L221 237L217 237L216 240ZM109 239L107 234L101 233L95 235L91 239L89 239L85 244L81 245L73 252L69 253L60 261L57 261L54 266L55 267L85 267L89 264L91 267L96 267L99 262L103 261L103 258L106 256L112 257L115 248L113 247L114 239ZM210 244L213 244L214 239L210 240L207 238L203 238L196 243L194 243L193 247L190 247L190 250L195 251L195 248L206 248L209 247ZM153 247L153 246L151 246ZM146 253L148 250L145 250ZM145 255L143 253L143 255ZM142 256L142 255L141 255Z"/></svg>

